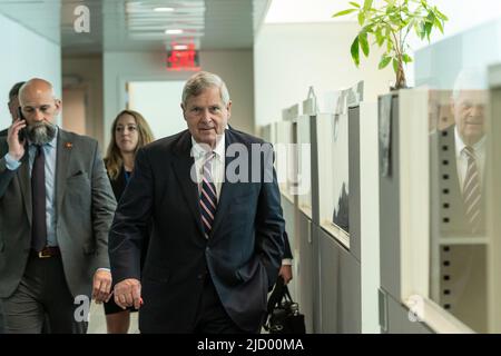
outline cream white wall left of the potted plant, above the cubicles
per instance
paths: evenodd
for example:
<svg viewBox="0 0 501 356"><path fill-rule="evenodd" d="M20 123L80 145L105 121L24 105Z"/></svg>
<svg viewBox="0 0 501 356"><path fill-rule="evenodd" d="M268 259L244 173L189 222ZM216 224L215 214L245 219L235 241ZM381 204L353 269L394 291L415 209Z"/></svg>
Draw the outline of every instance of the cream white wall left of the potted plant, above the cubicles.
<svg viewBox="0 0 501 356"><path fill-rule="evenodd" d="M394 81L393 69L377 70L373 49L356 68L350 47L354 22L264 24L254 46L256 126L282 119L282 109L306 99L315 88L321 110L330 107L327 92L365 81L365 100L375 101Z"/></svg>

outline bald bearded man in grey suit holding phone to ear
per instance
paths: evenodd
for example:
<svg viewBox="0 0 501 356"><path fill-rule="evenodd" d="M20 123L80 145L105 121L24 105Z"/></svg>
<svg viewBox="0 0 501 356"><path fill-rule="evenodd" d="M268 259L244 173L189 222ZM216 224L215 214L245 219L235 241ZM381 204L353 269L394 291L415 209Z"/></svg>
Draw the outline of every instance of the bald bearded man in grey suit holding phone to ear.
<svg viewBox="0 0 501 356"><path fill-rule="evenodd" d="M6 329L40 333L47 315L52 333L85 333L90 296L99 303L110 293L107 236L116 201L97 141L52 123L61 108L52 86L31 79L19 101L26 119L0 139Z"/></svg>

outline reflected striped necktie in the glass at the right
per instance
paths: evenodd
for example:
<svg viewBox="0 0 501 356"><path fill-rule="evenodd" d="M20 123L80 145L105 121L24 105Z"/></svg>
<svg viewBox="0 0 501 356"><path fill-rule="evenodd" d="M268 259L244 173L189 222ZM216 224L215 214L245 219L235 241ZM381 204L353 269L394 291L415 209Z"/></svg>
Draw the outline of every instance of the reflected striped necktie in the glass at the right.
<svg viewBox="0 0 501 356"><path fill-rule="evenodd" d="M466 221L471 233L477 234L481 228L481 190L480 175L477 167L477 159L472 147L464 147L463 151L468 157L466 176L463 185L463 201Z"/></svg>

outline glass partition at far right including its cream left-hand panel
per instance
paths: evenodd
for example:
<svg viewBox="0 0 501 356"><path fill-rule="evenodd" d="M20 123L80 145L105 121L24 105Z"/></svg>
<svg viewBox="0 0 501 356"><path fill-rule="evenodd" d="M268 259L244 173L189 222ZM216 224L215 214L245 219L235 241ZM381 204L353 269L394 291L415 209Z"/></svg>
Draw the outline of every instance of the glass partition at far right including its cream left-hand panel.
<svg viewBox="0 0 501 356"><path fill-rule="evenodd" d="M492 98L468 86L405 90L393 116L402 301L415 312L421 300L428 314L420 317L438 332L500 332L500 132L493 131L500 105Z"/></svg>

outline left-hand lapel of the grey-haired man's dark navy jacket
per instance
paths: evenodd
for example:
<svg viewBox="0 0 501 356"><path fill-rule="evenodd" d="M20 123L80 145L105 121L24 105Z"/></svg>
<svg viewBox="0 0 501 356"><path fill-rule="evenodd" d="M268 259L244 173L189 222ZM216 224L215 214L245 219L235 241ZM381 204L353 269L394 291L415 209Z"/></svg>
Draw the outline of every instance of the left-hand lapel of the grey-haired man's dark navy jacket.
<svg viewBox="0 0 501 356"><path fill-rule="evenodd" d="M195 218L196 225L200 233L204 235L204 227L202 226L202 212L198 204L198 186L191 179L191 167L195 165L195 160L191 157L191 136L189 131L183 135L176 146L175 156L171 161L173 171L177 178L183 196L188 204L189 209Z"/></svg>

